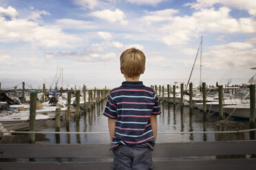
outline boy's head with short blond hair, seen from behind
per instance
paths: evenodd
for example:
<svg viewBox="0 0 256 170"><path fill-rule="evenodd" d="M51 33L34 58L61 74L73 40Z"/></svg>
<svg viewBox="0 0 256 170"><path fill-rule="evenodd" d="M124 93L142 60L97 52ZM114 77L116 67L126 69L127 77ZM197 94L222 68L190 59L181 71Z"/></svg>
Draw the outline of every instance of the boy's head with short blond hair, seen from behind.
<svg viewBox="0 0 256 170"><path fill-rule="evenodd" d="M127 77L136 77L145 71L145 54L136 48L127 49L120 56L122 73Z"/></svg>

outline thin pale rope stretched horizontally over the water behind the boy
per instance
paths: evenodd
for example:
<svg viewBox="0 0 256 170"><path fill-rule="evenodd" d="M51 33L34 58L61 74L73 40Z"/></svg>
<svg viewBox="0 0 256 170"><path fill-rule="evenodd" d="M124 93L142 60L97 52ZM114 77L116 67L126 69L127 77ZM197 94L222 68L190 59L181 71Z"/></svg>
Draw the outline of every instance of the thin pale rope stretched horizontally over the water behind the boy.
<svg viewBox="0 0 256 170"><path fill-rule="evenodd" d="M213 131L213 132L158 132L158 134L229 134L229 133L242 133L256 131L256 129L251 130L237 130L237 131ZM109 132L1 132L3 134L109 134Z"/></svg>

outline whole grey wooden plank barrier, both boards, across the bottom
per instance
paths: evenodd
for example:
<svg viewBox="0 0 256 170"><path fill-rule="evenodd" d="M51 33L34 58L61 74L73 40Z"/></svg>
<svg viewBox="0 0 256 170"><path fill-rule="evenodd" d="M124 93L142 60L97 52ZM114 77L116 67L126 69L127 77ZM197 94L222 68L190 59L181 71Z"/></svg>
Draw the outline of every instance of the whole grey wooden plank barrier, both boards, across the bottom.
<svg viewBox="0 0 256 170"><path fill-rule="evenodd" d="M256 141L158 143L153 151L153 165L160 170L253 170L256 167L256 158L250 158L253 154ZM223 155L247 155L247 158L215 159ZM0 169L111 169L113 161L109 145L77 144L2 144L0 158L1 161L18 158L17 162L0 162ZM24 158L36 158L36 162Z"/></svg>

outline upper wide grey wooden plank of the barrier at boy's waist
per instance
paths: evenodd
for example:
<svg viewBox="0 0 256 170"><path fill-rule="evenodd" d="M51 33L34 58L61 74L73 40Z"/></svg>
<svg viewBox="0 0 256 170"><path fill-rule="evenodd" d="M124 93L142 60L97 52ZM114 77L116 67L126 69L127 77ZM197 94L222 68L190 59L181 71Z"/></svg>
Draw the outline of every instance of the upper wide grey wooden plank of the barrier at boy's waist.
<svg viewBox="0 0 256 170"><path fill-rule="evenodd" d="M0 158L112 158L110 145L1 144ZM256 141L158 143L153 157L256 154Z"/></svg>

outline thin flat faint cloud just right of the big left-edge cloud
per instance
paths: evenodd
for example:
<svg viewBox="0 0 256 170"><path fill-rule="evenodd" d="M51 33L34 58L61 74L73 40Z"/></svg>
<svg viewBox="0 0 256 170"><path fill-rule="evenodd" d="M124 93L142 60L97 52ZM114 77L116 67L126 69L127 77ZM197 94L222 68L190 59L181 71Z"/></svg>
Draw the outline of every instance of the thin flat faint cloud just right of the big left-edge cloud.
<svg viewBox="0 0 256 170"><path fill-rule="evenodd" d="M63 29L96 29L96 25L92 21L82 21L75 19L58 19L56 23ZM74 27L76 25L76 27Z"/></svg>

